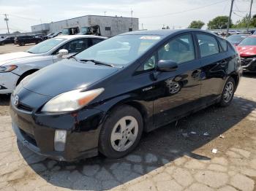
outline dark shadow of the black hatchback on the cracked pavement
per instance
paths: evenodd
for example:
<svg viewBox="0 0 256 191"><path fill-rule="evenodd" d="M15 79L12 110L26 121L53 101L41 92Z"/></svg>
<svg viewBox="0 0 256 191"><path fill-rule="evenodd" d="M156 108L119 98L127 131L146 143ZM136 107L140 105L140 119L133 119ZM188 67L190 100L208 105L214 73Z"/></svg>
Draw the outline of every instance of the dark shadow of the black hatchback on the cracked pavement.
<svg viewBox="0 0 256 191"><path fill-rule="evenodd" d="M73 190L108 190L157 171L180 157L211 160L217 155L211 153L211 149L232 144L231 140L237 135L236 132L232 134L230 128L255 109L256 102L241 97L235 97L226 108L210 106L178 122L145 133L134 152L116 160L99 156L77 163L64 163L39 157L19 142L18 148L26 163L54 186ZM227 130L230 131L226 137L219 138ZM213 139L221 139L222 144L219 147L208 146Z"/></svg>

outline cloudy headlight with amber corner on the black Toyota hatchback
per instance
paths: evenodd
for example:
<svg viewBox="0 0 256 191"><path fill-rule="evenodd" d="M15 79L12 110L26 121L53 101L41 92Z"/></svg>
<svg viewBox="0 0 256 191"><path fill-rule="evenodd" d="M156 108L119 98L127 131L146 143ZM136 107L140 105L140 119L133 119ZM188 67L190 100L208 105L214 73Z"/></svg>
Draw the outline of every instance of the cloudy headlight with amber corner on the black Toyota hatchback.
<svg viewBox="0 0 256 191"><path fill-rule="evenodd" d="M96 90L72 90L67 93L61 93L52 98L45 106L42 112L72 112L89 104L94 98L104 91L104 88Z"/></svg>

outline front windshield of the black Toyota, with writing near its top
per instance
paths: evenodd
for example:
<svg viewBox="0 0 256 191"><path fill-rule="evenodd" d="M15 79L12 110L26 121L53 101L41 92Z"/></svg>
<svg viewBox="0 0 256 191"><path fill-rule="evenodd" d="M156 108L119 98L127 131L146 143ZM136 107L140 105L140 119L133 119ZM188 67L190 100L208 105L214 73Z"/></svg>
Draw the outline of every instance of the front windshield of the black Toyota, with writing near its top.
<svg viewBox="0 0 256 191"><path fill-rule="evenodd" d="M126 65L139 58L160 39L161 36L155 35L118 35L80 52L75 58Z"/></svg>

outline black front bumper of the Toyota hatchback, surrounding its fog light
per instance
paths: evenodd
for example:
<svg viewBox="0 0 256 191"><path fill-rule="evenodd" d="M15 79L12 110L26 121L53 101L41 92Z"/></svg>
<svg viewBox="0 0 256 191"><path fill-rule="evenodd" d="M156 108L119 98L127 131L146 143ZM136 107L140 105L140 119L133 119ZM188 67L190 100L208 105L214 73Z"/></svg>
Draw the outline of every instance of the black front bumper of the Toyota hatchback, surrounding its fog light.
<svg viewBox="0 0 256 191"><path fill-rule="evenodd" d="M75 114L35 114L11 104L10 114L17 139L39 155L68 162L98 155L99 130L105 115L102 111L85 109ZM67 130L64 152L54 150L57 129Z"/></svg>

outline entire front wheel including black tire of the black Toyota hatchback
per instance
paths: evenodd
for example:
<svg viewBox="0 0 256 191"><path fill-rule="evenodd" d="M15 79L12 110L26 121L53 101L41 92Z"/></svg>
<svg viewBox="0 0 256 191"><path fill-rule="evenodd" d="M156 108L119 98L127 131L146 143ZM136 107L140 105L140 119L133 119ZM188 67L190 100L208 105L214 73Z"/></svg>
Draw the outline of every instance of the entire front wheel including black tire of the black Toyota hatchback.
<svg viewBox="0 0 256 191"><path fill-rule="evenodd" d="M142 132L140 112L132 106L118 106L105 120L99 133L99 152L110 158L124 157L137 147Z"/></svg>

